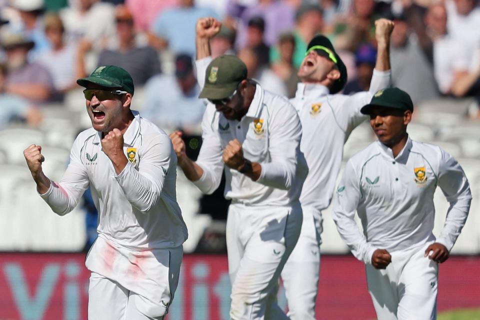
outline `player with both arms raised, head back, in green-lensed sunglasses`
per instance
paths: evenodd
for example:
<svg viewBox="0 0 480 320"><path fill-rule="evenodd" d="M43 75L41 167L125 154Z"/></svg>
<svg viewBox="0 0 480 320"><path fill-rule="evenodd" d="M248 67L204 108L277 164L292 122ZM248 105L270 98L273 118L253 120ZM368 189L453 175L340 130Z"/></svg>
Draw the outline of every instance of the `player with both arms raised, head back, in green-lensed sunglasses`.
<svg viewBox="0 0 480 320"><path fill-rule="evenodd" d="M219 22L213 18L200 19L199 22L211 26L197 27L197 78L202 79L206 64L211 61L208 45L204 42L211 35L208 31L212 31ZM337 93L345 85L346 68L331 42L323 35L315 36L308 43L298 70L301 82L290 102L298 112L302 125L300 151L306 158L308 175L300 195L303 212L300 237L281 272L288 316L293 320L315 319L321 211L328 207L333 195L343 144L351 131L367 119L360 113L360 108L378 89L391 84L389 39L392 30L392 21L375 21L378 53L367 92L353 95Z"/></svg>

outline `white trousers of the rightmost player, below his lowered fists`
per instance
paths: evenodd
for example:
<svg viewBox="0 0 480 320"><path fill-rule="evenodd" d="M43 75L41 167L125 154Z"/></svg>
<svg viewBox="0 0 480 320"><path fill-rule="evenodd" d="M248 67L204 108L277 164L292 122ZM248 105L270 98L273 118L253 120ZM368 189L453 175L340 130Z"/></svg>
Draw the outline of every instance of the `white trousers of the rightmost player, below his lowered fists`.
<svg viewBox="0 0 480 320"><path fill-rule="evenodd" d="M378 320L434 320L438 264L424 256L430 244L390 252L386 269L366 265L368 291Z"/></svg>

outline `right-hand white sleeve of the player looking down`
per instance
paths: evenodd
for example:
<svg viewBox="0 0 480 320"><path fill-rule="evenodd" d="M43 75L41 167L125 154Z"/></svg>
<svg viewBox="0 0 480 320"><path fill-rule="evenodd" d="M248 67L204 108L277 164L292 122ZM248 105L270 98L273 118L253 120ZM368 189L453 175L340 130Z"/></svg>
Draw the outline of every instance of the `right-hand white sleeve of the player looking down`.
<svg viewBox="0 0 480 320"><path fill-rule="evenodd" d="M275 112L270 118L269 162L262 162L258 183L289 189L295 178L300 153L301 124L293 106L284 99L274 99Z"/></svg>

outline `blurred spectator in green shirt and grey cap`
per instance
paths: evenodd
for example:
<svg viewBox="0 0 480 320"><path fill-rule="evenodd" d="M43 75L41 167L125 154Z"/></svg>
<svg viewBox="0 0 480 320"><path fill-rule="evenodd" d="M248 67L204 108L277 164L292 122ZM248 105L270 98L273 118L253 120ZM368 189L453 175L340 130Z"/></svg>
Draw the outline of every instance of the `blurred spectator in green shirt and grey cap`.
<svg viewBox="0 0 480 320"><path fill-rule="evenodd" d="M298 68L303 60L306 51L306 44L313 36L321 32L323 18L321 8L318 4L302 4L295 14L295 52L293 53L293 65ZM272 47L270 50L270 62L280 58L278 50Z"/></svg>

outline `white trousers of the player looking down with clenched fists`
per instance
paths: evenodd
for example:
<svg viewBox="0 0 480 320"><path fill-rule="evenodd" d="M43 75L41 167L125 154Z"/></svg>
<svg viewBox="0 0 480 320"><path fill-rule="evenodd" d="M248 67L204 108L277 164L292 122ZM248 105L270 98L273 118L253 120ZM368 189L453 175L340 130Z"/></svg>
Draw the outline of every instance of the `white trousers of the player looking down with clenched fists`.
<svg viewBox="0 0 480 320"><path fill-rule="evenodd" d="M233 320L288 319L276 303L280 272L300 234L293 207L230 204L226 221Z"/></svg>

